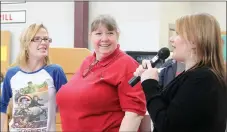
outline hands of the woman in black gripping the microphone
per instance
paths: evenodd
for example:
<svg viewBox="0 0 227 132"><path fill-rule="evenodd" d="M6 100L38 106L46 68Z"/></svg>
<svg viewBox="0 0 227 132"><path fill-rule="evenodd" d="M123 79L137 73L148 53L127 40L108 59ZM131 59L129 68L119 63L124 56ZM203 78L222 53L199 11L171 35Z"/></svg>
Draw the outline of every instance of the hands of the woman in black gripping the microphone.
<svg viewBox="0 0 227 132"><path fill-rule="evenodd" d="M147 67L147 69L145 69ZM154 79L154 80L159 80L158 77L158 69L157 68L152 68L151 67L151 62L150 60L143 60L142 65L140 65L137 69L136 72L134 72L135 76L140 76L141 77L141 82L147 80L147 79Z"/></svg>

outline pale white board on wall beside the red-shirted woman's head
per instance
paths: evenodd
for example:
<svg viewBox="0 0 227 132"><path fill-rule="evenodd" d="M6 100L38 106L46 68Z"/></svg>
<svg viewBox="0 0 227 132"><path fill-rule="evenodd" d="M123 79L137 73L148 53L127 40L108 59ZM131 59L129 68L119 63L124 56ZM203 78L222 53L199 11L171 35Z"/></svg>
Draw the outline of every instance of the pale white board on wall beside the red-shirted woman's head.
<svg viewBox="0 0 227 132"><path fill-rule="evenodd" d="M159 50L159 21L119 23L119 28L119 44L122 50Z"/></svg>

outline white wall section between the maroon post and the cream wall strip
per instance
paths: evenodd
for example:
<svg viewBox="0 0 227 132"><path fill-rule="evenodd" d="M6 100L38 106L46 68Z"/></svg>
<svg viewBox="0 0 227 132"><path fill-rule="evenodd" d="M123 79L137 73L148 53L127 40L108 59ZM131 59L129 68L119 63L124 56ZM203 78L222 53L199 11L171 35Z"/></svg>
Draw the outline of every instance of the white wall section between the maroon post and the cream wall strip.
<svg viewBox="0 0 227 132"><path fill-rule="evenodd" d="M149 48L158 48L159 2L90 2L89 24L99 14L110 14L116 19L123 50L147 50L150 41L153 43ZM89 48L93 49L91 44Z"/></svg>

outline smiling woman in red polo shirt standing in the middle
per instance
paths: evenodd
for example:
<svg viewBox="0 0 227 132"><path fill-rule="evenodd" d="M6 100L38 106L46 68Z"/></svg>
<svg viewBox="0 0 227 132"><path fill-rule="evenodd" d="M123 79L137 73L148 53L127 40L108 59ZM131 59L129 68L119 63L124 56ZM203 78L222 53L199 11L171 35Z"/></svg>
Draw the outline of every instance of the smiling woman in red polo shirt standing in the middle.
<svg viewBox="0 0 227 132"><path fill-rule="evenodd" d="M139 64L119 49L116 21L107 15L91 24L95 52L57 94L63 131L138 131L146 113L141 84L128 80Z"/></svg>

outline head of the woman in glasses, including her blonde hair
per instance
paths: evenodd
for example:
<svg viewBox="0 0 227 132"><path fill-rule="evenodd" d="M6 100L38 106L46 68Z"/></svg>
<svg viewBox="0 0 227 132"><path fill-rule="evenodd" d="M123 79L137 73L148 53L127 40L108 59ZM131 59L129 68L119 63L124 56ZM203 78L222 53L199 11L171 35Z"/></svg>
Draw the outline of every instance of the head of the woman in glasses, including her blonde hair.
<svg viewBox="0 0 227 132"><path fill-rule="evenodd" d="M43 61L45 65L50 64L48 49L51 42L48 30L43 24L31 24L20 36L20 51L15 65L26 67L29 59Z"/></svg>

